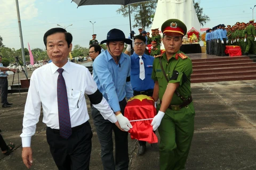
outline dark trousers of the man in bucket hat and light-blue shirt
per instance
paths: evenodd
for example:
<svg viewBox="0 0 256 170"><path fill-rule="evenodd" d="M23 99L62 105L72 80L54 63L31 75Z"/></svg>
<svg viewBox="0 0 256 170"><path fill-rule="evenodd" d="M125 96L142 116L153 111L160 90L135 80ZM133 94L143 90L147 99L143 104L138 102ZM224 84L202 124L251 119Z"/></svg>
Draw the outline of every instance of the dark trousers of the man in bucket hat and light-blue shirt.
<svg viewBox="0 0 256 170"><path fill-rule="evenodd" d="M119 102L121 112L124 114L126 100ZM127 170L129 167L128 132L121 131L114 123L105 120L98 109L92 106L93 123L96 127L101 145L101 161L104 170ZM115 133L115 160L113 154L112 131Z"/></svg>

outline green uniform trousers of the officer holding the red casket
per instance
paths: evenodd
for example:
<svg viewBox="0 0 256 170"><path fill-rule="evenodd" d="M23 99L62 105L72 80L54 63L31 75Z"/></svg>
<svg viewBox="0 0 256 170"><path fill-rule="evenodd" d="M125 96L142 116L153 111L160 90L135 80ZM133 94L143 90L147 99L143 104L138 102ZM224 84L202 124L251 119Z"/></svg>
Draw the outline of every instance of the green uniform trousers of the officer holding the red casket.
<svg viewBox="0 0 256 170"><path fill-rule="evenodd" d="M160 106L158 106L158 109ZM194 134L195 109L193 102L179 111L167 109L158 132L160 135L160 169L185 169Z"/></svg>

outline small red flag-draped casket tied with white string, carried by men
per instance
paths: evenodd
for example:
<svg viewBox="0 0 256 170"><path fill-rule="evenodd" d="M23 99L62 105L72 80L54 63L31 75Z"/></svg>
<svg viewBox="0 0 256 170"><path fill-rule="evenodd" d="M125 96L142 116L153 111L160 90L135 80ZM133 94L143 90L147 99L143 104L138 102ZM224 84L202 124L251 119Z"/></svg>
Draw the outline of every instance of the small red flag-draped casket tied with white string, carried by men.
<svg viewBox="0 0 256 170"><path fill-rule="evenodd" d="M156 134L153 132L151 122L156 115L155 101L146 95L134 96L127 101L124 115L133 128L129 131L132 139L157 143Z"/></svg>

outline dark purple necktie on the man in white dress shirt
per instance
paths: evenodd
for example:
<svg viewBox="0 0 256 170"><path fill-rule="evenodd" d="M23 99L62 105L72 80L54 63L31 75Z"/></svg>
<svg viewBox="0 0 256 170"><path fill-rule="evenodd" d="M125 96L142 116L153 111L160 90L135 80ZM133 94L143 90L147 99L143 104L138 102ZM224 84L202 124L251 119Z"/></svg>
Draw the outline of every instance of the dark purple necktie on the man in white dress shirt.
<svg viewBox="0 0 256 170"><path fill-rule="evenodd" d="M57 83L57 95L58 95L58 111L59 111L59 125L60 125L60 136L68 139L72 134L69 107L68 107L68 95L66 83L63 78L63 69L58 69L58 83Z"/></svg>

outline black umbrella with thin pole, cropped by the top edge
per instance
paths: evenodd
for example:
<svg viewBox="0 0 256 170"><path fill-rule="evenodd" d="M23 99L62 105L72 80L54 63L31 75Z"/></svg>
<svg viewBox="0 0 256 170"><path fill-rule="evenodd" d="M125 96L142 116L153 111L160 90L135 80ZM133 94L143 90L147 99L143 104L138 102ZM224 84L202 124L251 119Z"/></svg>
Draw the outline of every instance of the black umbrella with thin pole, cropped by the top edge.
<svg viewBox="0 0 256 170"><path fill-rule="evenodd" d="M72 0L72 2L75 2L78 6L83 6L83 5L124 5L125 6L129 4L135 4L139 2L145 2L145 1L152 1L152 0ZM129 7L130 34L131 34L132 25L131 25L130 5L128 7Z"/></svg>

